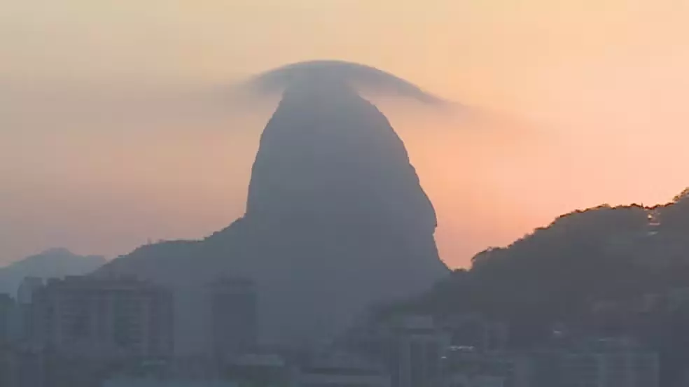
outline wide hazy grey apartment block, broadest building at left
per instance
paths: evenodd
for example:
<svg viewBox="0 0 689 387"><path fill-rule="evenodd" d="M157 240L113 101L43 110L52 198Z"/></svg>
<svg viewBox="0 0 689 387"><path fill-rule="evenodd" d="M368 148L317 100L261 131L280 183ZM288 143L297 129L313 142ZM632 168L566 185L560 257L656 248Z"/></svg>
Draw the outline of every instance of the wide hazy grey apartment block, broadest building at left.
<svg viewBox="0 0 689 387"><path fill-rule="evenodd" d="M174 346L172 294L137 279L71 276L32 297L32 339L86 356L162 357Z"/></svg>

